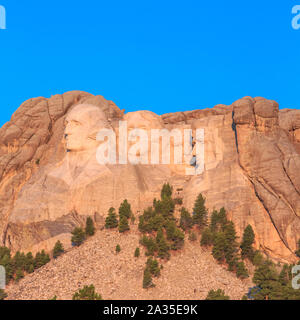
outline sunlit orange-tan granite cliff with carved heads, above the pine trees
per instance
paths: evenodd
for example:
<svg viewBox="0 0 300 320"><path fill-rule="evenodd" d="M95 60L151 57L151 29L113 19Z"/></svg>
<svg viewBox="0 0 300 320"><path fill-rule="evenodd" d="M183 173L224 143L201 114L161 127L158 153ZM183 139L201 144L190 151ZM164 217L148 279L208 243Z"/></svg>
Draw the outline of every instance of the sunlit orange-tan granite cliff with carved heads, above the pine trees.
<svg viewBox="0 0 300 320"><path fill-rule="evenodd" d="M105 140L97 132L111 129L118 145L120 121L127 121L128 148L138 141L136 128L191 129L193 137L204 129L204 171L186 175L189 164L172 162L100 165L96 150ZM150 158L150 148L138 155ZM227 209L240 236L251 224L257 248L291 262L300 238L299 172L300 110L279 111L264 98L162 116L124 114L79 91L35 98L0 129L0 239L12 250L50 249L57 239L68 246L86 216L101 227L107 210L124 199L138 215L168 181L187 208L203 193L210 211Z"/></svg>

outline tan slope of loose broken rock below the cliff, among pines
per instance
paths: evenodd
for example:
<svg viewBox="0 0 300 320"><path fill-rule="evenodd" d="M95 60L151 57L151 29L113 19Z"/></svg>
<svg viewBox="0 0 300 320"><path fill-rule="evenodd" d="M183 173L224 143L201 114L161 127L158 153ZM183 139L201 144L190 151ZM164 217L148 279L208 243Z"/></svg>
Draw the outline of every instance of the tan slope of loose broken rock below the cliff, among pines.
<svg viewBox="0 0 300 320"><path fill-rule="evenodd" d="M173 252L163 262L154 288L143 289L142 279L146 257L139 246L136 226L120 234L116 230L98 231L78 248L51 260L50 263L10 285L7 299L43 300L72 299L75 291L94 284L96 291L107 299L205 299L210 289L222 288L231 299L241 299L252 285L218 265L211 253L195 242L185 240L184 249ZM120 244L121 252L115 247ZM134 258L135 248L141 256Z"/></svg>

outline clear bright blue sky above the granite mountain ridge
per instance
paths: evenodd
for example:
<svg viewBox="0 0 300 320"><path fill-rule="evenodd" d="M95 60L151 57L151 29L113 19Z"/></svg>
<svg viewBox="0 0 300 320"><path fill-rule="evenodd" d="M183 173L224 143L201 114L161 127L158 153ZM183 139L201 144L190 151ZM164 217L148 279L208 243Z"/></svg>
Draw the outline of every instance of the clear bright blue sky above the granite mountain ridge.
<svg viewBox="0 0 300 320"><path fill-rule="evenodd" d="M300 108L297 4L0 0L0 125L23 101L69 90L158 114L246 95Z"/></svg>

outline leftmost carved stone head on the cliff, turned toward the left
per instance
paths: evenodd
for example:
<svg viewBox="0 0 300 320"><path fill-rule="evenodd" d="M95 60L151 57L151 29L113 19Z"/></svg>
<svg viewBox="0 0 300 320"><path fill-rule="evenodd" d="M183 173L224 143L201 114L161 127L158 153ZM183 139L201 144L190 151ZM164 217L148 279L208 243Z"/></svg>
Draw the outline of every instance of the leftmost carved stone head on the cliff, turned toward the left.
<svg viewBox="0 0 300 320"><path fill-rule="evenodd" d="M76 106L65 120L67 150L79 152L96 148L97 133L107 127L106 115L98 107L88 104Z"/></svg>

